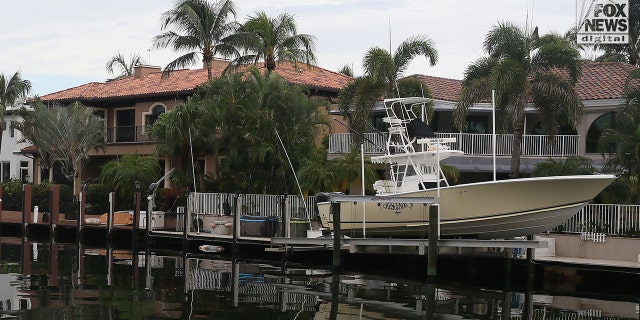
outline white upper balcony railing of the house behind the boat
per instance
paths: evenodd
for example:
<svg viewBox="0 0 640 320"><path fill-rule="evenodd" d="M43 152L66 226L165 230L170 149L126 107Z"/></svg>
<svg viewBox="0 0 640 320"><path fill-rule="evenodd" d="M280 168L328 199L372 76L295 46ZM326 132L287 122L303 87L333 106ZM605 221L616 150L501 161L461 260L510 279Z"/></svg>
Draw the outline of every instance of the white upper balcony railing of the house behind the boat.
<svg viewBox="0 0 640 320"><path fill-rule="evenodd" d="M455 138L451 145L467 155L491 155L493 135L473 133L436 133L440 138ZM329 153L349 153L355 135L350 133L332 134L329 137ZM382 154L387 140L386 133L367 133L363 139L364 152L369 155ZM567 157L578 155L580 136L557 135L551 139L546 135L525 135L522 137L523 156ZM496 135L496 155L510 156L513 148L513 134ZM359 146L358 146L359 149Z"/></svg>

